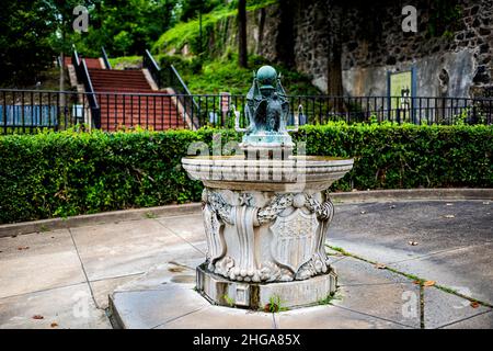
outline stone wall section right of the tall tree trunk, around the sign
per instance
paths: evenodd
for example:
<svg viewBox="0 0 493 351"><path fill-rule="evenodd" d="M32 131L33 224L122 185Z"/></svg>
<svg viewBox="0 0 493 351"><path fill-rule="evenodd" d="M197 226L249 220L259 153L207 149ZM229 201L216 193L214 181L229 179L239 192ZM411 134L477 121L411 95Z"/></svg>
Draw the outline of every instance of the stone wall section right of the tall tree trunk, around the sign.
<svg viewBox="0 0 493 351"><path fill-rule="evenodd" d="M401 29L402 9L386 11L372 38L351 37L343 44L344 89L352 95L387 94L387 73L414 69L416 95L471 97L493 92L493 1L458 1L459 19L454 31L429 34L426 1L416 1L417 33ZM451 3L454 5L454 3ZM371 13L370 13L371 15ZM358 11L347 16L362 25ZM362 33L367 27L355 29Z"/></svg>

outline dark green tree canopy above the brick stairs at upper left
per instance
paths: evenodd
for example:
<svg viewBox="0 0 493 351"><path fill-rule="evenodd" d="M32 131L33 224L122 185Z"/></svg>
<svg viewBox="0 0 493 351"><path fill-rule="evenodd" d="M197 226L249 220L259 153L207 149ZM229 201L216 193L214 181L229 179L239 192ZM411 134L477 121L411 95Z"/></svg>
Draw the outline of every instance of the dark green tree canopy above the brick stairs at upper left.
<svg viewBox="0 0 493 351"><path fill-rule="evenodd" d="M0 84L33 83L61 52L101 56L141 55L171 27L184 0L33 0L3 2L0 11ZM73 9L89 10L88 32L77 33Z"/></svg>

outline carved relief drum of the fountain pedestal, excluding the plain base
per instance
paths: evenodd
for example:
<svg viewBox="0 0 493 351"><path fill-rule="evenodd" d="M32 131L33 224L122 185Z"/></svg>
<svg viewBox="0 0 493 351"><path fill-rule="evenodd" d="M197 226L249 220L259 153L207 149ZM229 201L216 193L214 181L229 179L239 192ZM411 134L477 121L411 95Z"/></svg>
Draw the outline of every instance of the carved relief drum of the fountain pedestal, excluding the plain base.
<svg viewBox="0 0 493 351"><path fill-rule="evenodd" d="M204 191L210 271L244 282L306 280L328 272L324 241L334 213L329 193L324 202L307 193L277 193L263 207L254 206L254 194L234 194L227 201L221 192ZM236 233L236 254L228 251L223 238L227 225L236 229L229 231ZM255 259L255 228L266 228L272 235L268 247L262 248L268 251L262 261Z"/></svg>

